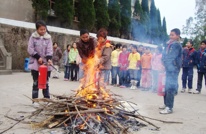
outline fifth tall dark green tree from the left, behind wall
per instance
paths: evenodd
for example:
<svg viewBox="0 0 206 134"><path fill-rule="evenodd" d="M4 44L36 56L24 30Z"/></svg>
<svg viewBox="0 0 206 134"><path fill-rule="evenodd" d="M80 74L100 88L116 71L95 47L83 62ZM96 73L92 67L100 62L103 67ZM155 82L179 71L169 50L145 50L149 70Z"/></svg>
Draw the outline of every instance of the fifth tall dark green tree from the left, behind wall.
<svg viewBox="0 0 206 134"><path fill-rule="evenodd" d="M119 0L109 0L108 13L110 18L109 34L112 36L119 36L121 27Z"/></svg>

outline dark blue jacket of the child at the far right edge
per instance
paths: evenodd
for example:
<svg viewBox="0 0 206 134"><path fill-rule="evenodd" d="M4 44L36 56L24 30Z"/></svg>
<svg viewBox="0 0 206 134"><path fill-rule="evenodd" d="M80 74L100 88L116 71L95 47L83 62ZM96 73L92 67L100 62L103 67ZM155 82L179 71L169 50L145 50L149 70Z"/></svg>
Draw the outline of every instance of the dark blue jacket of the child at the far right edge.
<svg viewBox="0 0 206 134"><path fill-rule="evenodd" d="M206 49L197 52L197 69L198 72L206 73Z"/></svg>

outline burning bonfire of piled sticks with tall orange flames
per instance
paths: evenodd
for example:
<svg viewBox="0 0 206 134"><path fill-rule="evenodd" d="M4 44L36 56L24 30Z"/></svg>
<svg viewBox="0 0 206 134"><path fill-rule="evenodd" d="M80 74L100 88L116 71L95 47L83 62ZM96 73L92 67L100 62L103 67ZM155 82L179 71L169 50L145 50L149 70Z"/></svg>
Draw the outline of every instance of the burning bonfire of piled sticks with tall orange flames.
<svg viewBox="0 0 206 134"><path fill-rule="evenodd" d="M163 123L181 123L142 116L138 113L136 104L125 101L100 84L100 66L95 64L99 60L99 53L100 51L96 50L95 56L87 60L84 78L72 95L51 95L51 99L32 99L40 106L31 115L21 120L7 115L6 117L16 120L16 124L25 122L25 119L38 118L38 122L32 122L34 128L63 127L67 134L126 134L147 125L159 130L158 126L147 119Z"/></svg>

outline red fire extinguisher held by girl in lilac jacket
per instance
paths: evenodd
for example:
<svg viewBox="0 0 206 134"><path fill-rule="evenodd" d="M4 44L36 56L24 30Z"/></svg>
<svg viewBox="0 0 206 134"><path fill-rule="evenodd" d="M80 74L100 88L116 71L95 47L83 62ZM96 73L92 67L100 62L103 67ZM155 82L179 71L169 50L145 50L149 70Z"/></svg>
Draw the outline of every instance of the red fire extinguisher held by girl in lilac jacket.
<svg viewBox="0 0 206 134"><path fill-rule="evenodd" d="M47 71L48 71L48 67L46 65L43 64L39 66L39 77L38 77L39 89L46 89Z"/></svg>

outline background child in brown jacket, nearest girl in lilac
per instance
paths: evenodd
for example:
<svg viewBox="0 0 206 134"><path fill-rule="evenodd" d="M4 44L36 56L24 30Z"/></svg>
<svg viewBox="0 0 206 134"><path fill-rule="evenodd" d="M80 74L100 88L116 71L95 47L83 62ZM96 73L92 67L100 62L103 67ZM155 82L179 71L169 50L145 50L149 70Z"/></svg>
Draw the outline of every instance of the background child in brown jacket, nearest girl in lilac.
<svg viewBox="0 0 206 134"><path fill-rule="evenodd" d="M57 42L53 43L53 57L52 57L52 62L54 64L54 67L57 70L53 70L52 74L53 74L53 78L59 78L59 66L60 66L60 60L62 58L62 50L58 47Z"/></svg>

